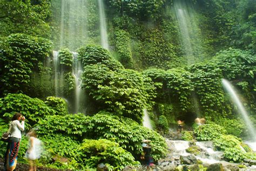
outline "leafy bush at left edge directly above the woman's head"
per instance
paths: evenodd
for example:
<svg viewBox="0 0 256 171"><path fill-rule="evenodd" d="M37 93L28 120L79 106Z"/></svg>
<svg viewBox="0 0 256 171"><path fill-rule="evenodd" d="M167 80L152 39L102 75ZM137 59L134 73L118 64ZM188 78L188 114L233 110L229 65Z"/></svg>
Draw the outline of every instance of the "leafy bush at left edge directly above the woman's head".
<svg viewBox="0 0 256 171"><path fill-rule="evenodd" d="M7 94L0 98L0 117L11 120L15 112L22 113L29 124L33 126L46 115L56 114L56 111L44 104L42 100L30 98L24 94Z"/></svg>

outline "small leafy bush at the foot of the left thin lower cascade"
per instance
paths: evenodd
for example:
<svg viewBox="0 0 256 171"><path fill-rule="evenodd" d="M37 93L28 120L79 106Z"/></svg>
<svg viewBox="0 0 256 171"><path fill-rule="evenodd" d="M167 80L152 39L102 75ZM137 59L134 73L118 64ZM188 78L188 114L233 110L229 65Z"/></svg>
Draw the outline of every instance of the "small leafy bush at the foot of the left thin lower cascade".
<svg viewBox="0 0 256 171"><path fill-rule="evenodd" d="M47 97L44 103L56 111L55 114L65 115L68 114L68 107L66 101L63 98L58 97Z"/></svg>

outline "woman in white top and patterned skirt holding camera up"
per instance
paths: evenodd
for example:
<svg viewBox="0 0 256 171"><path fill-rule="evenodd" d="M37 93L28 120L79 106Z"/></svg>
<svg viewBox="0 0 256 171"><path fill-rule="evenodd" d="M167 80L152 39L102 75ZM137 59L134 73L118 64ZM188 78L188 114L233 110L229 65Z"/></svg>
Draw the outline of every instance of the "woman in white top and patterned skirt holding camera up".
<svg viewBox="0 0 256 171"><path fill-rule="evenodd" d="M4 168L7 171L12 171L16 168L19 141L21 141L21 131L25 129L25 117L21 113L16 113L10 122L10 139L6 148Z"/></svg>

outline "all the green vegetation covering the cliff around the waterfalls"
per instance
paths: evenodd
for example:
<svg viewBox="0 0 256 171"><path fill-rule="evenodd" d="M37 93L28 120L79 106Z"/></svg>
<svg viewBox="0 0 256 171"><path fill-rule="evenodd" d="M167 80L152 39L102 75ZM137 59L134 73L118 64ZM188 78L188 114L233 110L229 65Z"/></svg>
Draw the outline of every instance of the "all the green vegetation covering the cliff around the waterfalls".
<svg viewBox="0 0 256 171"><path fill-rule="evenodd" d="M180 40L175 0L104 1L109 49L100 46L98 4L93 0L66 11L75 16L87 11L78 20L86 23L87 36L79 32L59 44L66 34L56 19L59 2L0 1L0 133L15 112L22 113L26 131L35 128L44 142L38 165L86 169L105 163L109 169L123 169L139 164L143 139L152 141L157 161L166 155L162 135L178 119L192 126L197 117L206 118L207 124L183 132L184 140L212 140L227 161L256 159L248 147L241 151L247 123L221 85L223 78L232 83L256 127L254 0L183 1L196 11L195 30L188 29L192 63ZM65 100L56 97L52 50L59 51L59 96ZM70 105L76 99L72 51L83 67L86 111L79 113ZM145 110L154 131L142 126ZM28 140L23 139L18 159L26 163ZM5 143L0 147L3 158Z"/></svg>

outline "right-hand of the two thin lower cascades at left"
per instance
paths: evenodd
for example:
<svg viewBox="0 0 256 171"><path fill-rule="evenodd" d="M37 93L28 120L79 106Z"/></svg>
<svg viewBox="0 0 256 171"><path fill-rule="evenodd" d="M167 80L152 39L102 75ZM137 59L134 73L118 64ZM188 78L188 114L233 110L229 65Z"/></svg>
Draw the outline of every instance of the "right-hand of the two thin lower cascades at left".
<svg viewBox="0 0 256 171"><path fill-rule="evenodd" d="M73 53L73 68L72 68L72 74L75 77L75 113L80 112L80 100L81 100L81 94L82 93L82 88L81 88L81 77L83 73L83 68L82 68L82 62L78 60L78 53L72 52Z"/></svg>

